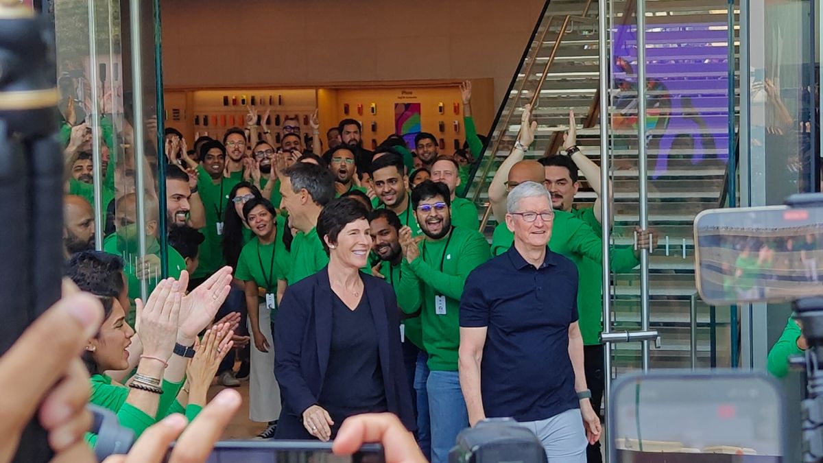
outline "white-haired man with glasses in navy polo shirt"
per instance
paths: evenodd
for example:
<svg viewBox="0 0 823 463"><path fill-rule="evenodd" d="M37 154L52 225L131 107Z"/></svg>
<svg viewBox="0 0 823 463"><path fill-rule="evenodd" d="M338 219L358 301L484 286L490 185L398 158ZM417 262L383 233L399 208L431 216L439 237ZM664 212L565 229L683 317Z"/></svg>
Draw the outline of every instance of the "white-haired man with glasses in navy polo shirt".
<svg viewBox="0 0 823 463"><path fill-rule="evenodd" d="M506 210L514 246L469 274L460 302L469 423L513 417L549 461L584 463L601 428L586 386L577 268L548 249L554 211L543 185L512 189Z"/></svg>

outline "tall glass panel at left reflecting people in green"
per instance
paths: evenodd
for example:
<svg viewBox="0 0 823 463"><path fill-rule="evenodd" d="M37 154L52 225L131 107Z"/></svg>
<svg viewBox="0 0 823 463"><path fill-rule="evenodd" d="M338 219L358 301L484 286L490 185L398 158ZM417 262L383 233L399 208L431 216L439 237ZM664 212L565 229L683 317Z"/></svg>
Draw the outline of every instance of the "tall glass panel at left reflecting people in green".
<svg viewBox="0 0 823 463"><path fill-rule="evenodd" d="M145 299L164 275L156 7L137 0L54 0L49 6L66 191L93 209L94 247L123 257L132 301ZM88 236L69 236L67 251L87 242Z"/></svg>

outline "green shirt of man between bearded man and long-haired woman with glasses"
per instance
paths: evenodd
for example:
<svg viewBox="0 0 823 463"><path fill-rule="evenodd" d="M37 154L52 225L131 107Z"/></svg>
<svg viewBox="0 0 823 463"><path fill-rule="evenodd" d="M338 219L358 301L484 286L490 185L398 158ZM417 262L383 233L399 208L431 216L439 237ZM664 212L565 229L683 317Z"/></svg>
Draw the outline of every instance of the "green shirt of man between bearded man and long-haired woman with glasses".
<svg viewBox="0 0 823 463"><path fill-rule="evenodd" d="M240 174L242 178L242 172ZM206 209L206 227L201 232L206 239L200 245L200 264L192 278L207 278L226 262L223 259L223 236L217 233L217 224L222 225L229 194L238 183L239 180L221 177L215 184L202 164L198 166L198 191L203 208Z"/></svg>

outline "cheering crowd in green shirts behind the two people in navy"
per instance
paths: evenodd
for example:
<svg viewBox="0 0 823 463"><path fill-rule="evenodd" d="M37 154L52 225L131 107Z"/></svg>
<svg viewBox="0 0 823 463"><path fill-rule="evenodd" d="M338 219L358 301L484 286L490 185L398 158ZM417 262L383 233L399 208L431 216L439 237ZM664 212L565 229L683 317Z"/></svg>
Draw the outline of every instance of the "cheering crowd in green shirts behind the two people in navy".
<svg viewBox="0 0 823 463"><path fill-rule="evenodd" d="M467 113L467 152L477 154L483 142L470 115L471 85L463 84L461 90ZM530 108L524 115L530 117ZM599 411L603 358L598 339L602 330L601 217L597 203L594 208L575 208L574 195L580 185L579 172L599 194L600 170L576 145L573 114L563 152L539 162L524 159L534 133L532 124L523 125L518 142L489 187L491 212L499 223L491 246L479 231L480 211L463 198L471 155L442 154L433 134L417 134L415 152L397 135L370 152L362 147L360 123L344 119L328 131L330 147L318 155L291 133L282 133L281 144L276 146L267 128L254 124L256 119L250 111L247 128L230 129L222 140L198 139L191 151L179 133L167 130L168 229L160 231L159 217L151 213L158 210L155 192L151 192L153 196L144 194L146 229L137 230L140 193L115 191L110 199L114 207L104 204L113 211L104 248L123 258L125 301L132 307L142 285L154 294L156 287L172 284L159 277L161 233L167 234L172 245L167 250L169 276L188 280L189 291L213 283L214 275L230 269L232 283L225 302L221 296L215 316L235 320L236 313L245 315L244 321L235 320L234 325L225 322L218 330L225 337L224 325L229 324L232 341L238 346L247 344L249 358L241 360L248 373L242 366L235 372L234 358L227 356L230 362L224 360L217 374L224 386L237 386L236 376L249 376L250 418L268 424L261 437L272 437L281 410L272 371L276 351L272 329L279 302L288 286L328 264L323 237L317 232L318 217L332 199L346 197L360 201L370 211L374 252L362 271L384 278L406 314L401 337L409 386L414 391L416 437L425 456L445 461L454 437L467 426L457 376L463 285L473 269L512 246L514 236L503 220L505 198L509 189L527 181L544 185L551 194L556 215L549 248L568 257L579 269L577 305L586 373ZM315 132L319 127L316 116L312 127ZM87 138L86 133L83 136ZM79 145L67 150L72 154L72 166L83 163L78 150ZM77 171L77 177L68 181L69 191L79 192L77 183L87 185L86 172L81 168ZM116 175L111 165L106 166L106 182ZM611 253L611 268L616 272L631 271L639 264L639 253L655 246L648 230L636 232L637 248L618 246ZM149 256L130 259L137 254L140 233L146 236ZM77 251L81 241L67 239L67 243L74 243L67 246L67 255ZM139 317L134 310L123 309L126 324L134 326ZM244 329L248 336L242 335ZM594 453L599 455L597 447L589 455Z"/></svg>

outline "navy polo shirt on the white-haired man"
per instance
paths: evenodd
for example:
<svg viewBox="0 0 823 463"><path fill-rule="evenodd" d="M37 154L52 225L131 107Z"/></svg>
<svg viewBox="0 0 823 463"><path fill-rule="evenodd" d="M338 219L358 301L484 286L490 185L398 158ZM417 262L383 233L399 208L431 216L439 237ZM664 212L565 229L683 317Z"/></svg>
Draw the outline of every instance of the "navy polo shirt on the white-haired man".
<svg viewBox="0 0 823 463"><path fill-rule="evenodd" d="M535 269L512 246L477 267L460 300L460 326L486 327L481 391L486 417L548 419L579 407L569 358L577 268L546 248Z"/></svg>

